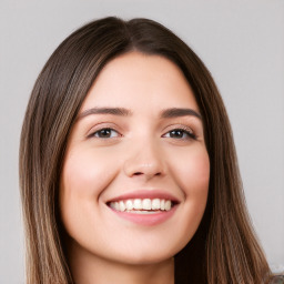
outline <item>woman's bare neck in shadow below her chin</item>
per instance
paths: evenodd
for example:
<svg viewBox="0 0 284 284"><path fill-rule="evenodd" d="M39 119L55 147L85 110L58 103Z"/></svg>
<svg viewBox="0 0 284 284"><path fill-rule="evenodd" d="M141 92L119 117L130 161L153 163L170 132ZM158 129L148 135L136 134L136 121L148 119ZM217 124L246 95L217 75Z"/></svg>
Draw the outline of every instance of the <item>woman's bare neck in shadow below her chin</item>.
<svg viewBox="0 0 284 284"><path fill-rule="evenodd" d="M78 247L68 251L75 284L174 284L173 257L159 263L125 264L83 250L79 253Z"/></svg>

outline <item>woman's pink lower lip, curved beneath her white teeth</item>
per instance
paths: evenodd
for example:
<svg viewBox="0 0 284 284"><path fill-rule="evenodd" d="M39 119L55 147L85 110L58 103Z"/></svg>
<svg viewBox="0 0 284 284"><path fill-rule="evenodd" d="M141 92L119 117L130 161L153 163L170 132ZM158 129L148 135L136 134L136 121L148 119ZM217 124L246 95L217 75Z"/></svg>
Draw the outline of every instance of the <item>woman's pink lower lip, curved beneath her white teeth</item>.
<svg viewBox="0 0 284 284"><path fill-rule="evenodd" d="M114 209L111 209L112 212L118 214L120 217L125 219L130 222L133 222L139 225L145 225L145 226L151 226L151 225L158 225L166 220L169 220L175 212L178 205L173 206L170 211L164 211L164 212L158 212L158 213L152 213L152 214L139 214L139 213L131 213L131 212L120 212Z"/></svg>

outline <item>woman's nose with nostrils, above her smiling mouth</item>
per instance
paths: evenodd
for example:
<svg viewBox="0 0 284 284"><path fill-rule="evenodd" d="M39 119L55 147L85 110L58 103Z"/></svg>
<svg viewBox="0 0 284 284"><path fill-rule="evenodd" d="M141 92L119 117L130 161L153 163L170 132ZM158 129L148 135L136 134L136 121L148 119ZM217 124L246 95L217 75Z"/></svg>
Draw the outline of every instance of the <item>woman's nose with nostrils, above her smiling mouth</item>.
<svg viewBox="0 0 284 284"><path fill-rule="evenodd" d="M129 178L143 176L150 180L154 176L164 175L165 163L158 145L143 143L135 145L124 161L124 173Z"/></svg>

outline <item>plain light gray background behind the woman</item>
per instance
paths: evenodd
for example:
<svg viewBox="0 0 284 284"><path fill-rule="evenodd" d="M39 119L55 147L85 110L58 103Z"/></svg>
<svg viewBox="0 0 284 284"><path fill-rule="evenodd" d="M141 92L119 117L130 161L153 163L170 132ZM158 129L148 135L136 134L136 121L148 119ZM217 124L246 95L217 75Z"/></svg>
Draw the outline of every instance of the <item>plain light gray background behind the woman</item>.
<svg viewBox="0 0 284 284"><path fill-rule="evenodd" d="M18 148L33 82L70 32L104 16L158 20L205 62L233 125L255 230L270 264L283 265L284 0L1 0L0 283L23 283Z"/></svg>

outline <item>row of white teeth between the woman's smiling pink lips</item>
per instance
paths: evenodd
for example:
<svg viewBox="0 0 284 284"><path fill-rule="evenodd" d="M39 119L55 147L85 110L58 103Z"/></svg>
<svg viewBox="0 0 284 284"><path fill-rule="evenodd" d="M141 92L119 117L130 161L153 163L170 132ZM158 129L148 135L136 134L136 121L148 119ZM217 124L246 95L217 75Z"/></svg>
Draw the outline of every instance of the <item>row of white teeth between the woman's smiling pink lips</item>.
<svg viewBox="0 0 284 284"><path fill-rule="evenodd" d="M146 214L153 211L170 211L172 202L170 200L160 199L134 199L125 201L111 202L110 206L116 211L131 211L133 213Z"/></svg>

